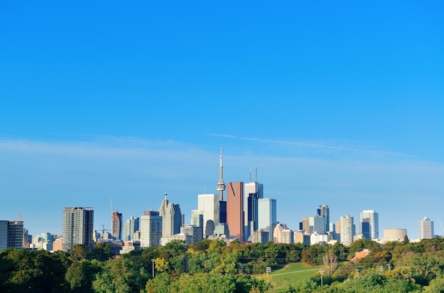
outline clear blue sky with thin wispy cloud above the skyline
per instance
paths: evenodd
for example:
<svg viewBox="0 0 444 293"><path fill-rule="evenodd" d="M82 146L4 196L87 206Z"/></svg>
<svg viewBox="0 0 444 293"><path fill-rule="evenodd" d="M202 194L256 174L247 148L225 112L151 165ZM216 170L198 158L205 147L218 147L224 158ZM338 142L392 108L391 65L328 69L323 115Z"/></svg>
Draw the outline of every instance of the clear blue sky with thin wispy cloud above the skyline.
<svg viewBox="0 0 444 293"><path fill-rule="evenodd" d="M274 3L277 2L277 3ZM3 1L0 219L62 232L257 181L298 228L444 221L442 1Z"/></svg>

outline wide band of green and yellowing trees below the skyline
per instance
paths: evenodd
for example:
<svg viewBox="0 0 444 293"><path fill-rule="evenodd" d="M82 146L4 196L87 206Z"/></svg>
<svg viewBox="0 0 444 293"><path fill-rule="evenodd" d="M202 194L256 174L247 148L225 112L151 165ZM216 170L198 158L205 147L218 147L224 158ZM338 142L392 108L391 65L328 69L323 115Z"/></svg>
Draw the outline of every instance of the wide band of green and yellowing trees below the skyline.
<svg viewBox="0 0 444 293"><path fill-rule="evenodd" d="M350 261L364 248L370 255ZM91 251L84 245L55 253L2 250L0 292L441 292L443 257L439 238L384 245L360 240L348 247L173 241L120 258L106 243ZM322 275L295 285L259 275L289 262L321 265Z"/></svg>

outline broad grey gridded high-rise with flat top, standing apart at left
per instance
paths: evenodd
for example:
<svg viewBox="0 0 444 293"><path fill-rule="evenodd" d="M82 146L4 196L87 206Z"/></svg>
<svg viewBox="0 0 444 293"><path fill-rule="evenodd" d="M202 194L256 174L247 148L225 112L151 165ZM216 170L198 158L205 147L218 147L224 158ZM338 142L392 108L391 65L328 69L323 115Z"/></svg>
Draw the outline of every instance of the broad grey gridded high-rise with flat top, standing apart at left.
<svg viewBox="0 0 444 293"><path fill-rule="evenodd" d="M66 207L63 211L63 250L75 244L93 248L94 210L88 207Z"/></svg>

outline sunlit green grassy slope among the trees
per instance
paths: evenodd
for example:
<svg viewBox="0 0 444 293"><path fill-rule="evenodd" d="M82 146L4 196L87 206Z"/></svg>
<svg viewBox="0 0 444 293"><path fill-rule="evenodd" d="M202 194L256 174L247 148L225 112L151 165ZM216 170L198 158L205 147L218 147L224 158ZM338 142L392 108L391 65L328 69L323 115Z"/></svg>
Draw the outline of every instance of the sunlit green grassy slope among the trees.
<svg viewBox="0 0 444 293"><path fill-rule="evenodd" d="M274 270L270 273L270 281L274 282L289 282L290 284L296 284L309 279L315 275L321 267L312 267L310 265L304 265L301 262L290 263L285 265L282 269ZM263 277L267 278L267 274Z"/></svg>

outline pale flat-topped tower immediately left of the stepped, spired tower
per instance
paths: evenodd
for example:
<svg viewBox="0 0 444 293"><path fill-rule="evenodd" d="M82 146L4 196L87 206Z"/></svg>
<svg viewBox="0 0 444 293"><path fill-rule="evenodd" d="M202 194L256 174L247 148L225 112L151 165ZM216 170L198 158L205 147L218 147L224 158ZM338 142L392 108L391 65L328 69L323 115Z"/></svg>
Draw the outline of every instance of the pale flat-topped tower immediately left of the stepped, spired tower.
<svg viewBox="0 0 444 293"><path fill-rule="evenodd" d="M158 211L143 211L140 217L140 247L157 247L162 238L162 217Z"/></svg>

